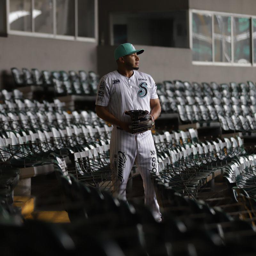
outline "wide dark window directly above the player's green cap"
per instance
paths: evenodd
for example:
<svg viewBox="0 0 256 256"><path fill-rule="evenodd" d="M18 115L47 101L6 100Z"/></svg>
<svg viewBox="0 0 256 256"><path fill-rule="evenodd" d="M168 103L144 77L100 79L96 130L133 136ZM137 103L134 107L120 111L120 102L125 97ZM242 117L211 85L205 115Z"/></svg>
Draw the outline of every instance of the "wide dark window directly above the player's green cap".
<svg viewBox="0 0 256 256"><path fill-rule="evenodd" d="M189 48L186 11L111 14L111 45Z"/></svg>

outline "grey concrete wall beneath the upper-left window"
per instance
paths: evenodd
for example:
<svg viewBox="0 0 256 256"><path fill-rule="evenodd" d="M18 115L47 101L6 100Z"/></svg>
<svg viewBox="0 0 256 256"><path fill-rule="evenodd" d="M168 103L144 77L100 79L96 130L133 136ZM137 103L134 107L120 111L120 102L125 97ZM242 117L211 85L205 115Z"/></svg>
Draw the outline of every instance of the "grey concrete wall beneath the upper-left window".
<svg viewBox="0 0 256 256"><path fill-rule="evenodd" d="M97 71L96 55L96 43L9 35L0 37L0 75L12 67Z"/></svg>

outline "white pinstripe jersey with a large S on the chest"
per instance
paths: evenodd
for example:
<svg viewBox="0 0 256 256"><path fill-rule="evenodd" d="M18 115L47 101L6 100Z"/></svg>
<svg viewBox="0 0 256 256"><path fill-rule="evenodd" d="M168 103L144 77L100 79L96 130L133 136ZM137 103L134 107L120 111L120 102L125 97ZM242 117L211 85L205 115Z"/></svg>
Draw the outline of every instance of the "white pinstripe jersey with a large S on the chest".
<svg viewBox="0 0 256 256"><path fill-rule="evenodd" d="M133 70L131 77L121 75L117 70L102 76L98 85L96 105L108 106L108 111L118 120L129 122L127 110L148 110L150 99L157 99L156 83L145 73Z"/></svg>

